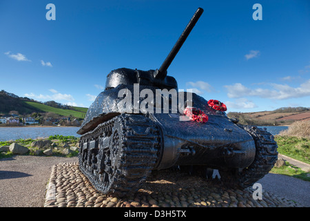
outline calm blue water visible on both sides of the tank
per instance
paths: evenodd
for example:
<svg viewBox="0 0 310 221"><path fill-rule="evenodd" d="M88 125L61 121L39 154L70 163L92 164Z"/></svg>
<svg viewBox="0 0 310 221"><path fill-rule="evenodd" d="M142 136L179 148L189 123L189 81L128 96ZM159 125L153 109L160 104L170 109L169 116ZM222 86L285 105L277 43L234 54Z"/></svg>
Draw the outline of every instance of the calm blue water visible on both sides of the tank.
<svg viewBox="0 0 310 221"><path fill-rule="evenodd" d="M286 130L287 126L259 126L267 128L272 135L277 135L280 131ZM64 135L80 137L76 132L79 127L0 127L0 141L17 140L17 139L37 139L37 137L50 137L50 135Z"/></svg>

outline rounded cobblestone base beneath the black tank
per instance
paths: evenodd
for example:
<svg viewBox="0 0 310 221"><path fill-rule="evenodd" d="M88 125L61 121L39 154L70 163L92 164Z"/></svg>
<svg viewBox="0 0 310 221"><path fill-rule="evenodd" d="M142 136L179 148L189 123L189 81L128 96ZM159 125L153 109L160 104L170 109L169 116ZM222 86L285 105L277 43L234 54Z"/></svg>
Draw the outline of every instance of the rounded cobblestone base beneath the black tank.
<svg viewBox="0 0 310 221"><path fill-rule="evenodd" d="M227 189L216 180L203 180L180 171L152 173L138 192L122 198L96 191L79 170L79 163L56 164L47 186L45 207L302 207L256 189Z"/></svg>

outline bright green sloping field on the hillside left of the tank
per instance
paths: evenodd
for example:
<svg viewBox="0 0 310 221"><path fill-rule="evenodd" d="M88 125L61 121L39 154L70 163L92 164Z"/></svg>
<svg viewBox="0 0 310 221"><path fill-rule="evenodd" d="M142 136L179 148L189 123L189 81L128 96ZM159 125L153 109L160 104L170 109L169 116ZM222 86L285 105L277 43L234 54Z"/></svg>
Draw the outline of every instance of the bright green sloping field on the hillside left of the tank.
<svg viewBox="0 0 310 221"><path fill-rule="evenodd" d="M81 108L81 107L74 107L76 111L68 110L68 109L61 109L61 108L54 108L52 106L40 104L37 102L25 102L26 104L33 106L34 108L39 109L43 112L52 112L56 113L57 115L61 115L64 117L76 117L76 118L84 118L85 114L87 112L87 108Z"/></svg>

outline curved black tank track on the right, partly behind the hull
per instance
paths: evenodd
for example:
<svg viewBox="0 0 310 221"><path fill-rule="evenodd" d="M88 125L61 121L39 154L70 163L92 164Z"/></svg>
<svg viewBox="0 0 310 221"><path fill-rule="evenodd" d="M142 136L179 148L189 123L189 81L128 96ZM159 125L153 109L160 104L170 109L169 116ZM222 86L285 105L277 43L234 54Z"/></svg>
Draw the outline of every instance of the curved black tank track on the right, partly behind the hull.
<svg viewBox="0 0 310 221"><path fill-rule="evenodd" d="M278 159L278 145L273 135L256 126L238 125L254 138L256 155L254 162L245 169L219 170L220 180L229 186L245 189L264 177Z"/></svg>

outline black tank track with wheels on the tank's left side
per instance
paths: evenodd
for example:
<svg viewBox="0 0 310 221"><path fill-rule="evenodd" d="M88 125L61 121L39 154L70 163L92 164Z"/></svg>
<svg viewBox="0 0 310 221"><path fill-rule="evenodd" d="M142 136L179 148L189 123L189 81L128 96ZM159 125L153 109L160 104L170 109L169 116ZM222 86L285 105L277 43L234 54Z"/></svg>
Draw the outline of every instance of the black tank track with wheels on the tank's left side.
<svg viewBox="0 0 310 221"><path fill-rule="evenodd" d="M143 115L118 115L80 138L79 168L98 191L136 191L158 163L161 134Z"/></svg>

